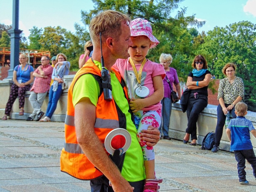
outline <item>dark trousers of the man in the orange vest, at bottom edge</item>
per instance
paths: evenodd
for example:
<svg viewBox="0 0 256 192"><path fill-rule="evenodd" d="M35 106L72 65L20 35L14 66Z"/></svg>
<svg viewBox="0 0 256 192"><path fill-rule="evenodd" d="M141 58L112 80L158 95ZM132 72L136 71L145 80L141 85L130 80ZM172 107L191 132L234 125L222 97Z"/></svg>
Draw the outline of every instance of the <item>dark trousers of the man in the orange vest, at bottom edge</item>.
<svg viewBox="0 0 256 192"><path fill-rule="evenodd" d="M103 175L102 177L90 180L91 192L100 192L101 185L106 177ZM129 181L128 181L129 182ZM145 180L129 182L132 187L134 187L133 192L143 192ZM107 191L107 186L104 186L105 192ZM111 190L112 187L111 187Z"/></svg>

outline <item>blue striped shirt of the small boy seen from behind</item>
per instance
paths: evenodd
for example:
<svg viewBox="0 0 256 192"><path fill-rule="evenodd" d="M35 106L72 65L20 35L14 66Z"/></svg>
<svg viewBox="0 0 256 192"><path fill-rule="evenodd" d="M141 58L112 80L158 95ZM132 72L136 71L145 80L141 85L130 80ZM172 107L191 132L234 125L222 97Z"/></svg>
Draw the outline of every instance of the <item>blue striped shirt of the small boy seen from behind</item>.
<svg viewBox="0 0 256 192"><path fill-rule="evenodd" d="M250 120L238 116L230 120L227 129L231 130L230 151L252 149L250 131L255 128Z"/></svg>

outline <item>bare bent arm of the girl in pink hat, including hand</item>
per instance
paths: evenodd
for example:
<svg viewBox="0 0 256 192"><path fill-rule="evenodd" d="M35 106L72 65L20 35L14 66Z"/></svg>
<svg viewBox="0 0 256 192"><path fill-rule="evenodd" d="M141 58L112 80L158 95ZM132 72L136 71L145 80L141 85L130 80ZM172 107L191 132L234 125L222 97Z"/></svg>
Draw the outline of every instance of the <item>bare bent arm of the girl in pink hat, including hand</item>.
<svg viewBox="0 0 256 192"><path fill-rule="evenodd" d="M143 109L144 107L154 105L163 99L162 76L157 75L153 77L153 84L155 92L151 96L145 99L132 99L132 101L130 101L130 108L133 111L133 113Z"/></svg>

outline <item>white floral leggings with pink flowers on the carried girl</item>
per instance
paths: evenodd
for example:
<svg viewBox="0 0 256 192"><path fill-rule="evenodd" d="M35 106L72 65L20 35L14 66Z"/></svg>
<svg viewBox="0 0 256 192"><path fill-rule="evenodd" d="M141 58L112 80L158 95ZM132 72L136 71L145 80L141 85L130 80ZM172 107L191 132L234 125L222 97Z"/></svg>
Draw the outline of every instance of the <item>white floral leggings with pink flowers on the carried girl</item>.
<svg viewBox="0 0 256 192"><path fill-rule="evenodd" d="M148 126L158 128L161 124L161 109L157 111L137 111L133 113L135 126L137 129L137 139L142 148L143 159L145 161L155 159L155 153L153 147L146 145L146 142L141 138L141 130L147 130Z"/></svg>

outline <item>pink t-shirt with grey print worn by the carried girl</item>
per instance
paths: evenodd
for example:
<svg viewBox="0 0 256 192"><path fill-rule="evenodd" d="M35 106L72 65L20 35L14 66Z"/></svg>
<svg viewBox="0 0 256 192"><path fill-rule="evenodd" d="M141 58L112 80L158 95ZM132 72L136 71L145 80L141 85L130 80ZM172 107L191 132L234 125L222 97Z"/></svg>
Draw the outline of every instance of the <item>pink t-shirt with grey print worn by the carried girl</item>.
<svg viewBox="0 0 256 192"><path fill-rule="evenodd" d="M140 64L135 65L138 73L139 73L140 66L141 66ZM117 59L116 63L113 65L113 68L116 69L120 73L121 77L123 78L127 87L129 98L140 98L135 93L136 88L139 87L139 83L136 79L135 73L133 71L133 67L129 62L129 58ZM157 75L161 75L162 79L164 79L165 71L163 69L163 66L147 59L142 69L141 85L148 87L149 89L148 96L151 96L154 93L153 77ZM162 107L161 102L158 102L157 104L145 107L142 110L157 111L161 107Z"/></svg>

